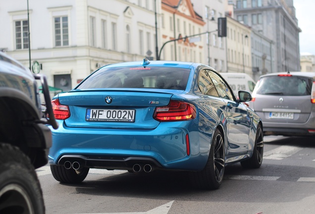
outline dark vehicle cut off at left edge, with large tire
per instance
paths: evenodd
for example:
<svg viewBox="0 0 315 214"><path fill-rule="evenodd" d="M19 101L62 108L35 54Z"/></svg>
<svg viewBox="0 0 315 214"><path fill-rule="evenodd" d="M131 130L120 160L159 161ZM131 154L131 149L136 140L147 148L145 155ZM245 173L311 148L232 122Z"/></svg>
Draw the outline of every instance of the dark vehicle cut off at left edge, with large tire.
<svg viewBox="0 0 315 214"><path fill-rule="evenodd" d="M41 118L40 80L50 120ZM48 162L52 114L46 77L0 52L0 214L45 214L35 168Z"/></svg>

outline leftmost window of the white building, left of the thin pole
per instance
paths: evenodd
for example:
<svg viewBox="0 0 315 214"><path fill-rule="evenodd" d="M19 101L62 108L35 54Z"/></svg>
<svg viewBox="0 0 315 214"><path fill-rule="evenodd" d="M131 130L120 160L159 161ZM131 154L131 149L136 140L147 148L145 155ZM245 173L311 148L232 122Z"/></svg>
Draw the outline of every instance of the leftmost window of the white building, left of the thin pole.
<svg viewBox="0 0 315 214"><path fill-rule="evenodd" d="M15 48L28 49L28 21L15 22Z"/></svg>

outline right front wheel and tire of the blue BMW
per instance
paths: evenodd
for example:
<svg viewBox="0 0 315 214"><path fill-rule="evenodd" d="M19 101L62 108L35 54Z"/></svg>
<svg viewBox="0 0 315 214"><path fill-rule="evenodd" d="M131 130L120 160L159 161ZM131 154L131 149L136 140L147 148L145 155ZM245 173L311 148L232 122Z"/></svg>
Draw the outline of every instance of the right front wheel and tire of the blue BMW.
<svg viewBox="0 0 315 214"><path fill-rule="evenodd" d="M244 168L259 168L262 165L262 157L263 157L263 133L262 133L262 126L258 125L253 156L250 159L242 161L241 165Z"/></svg>

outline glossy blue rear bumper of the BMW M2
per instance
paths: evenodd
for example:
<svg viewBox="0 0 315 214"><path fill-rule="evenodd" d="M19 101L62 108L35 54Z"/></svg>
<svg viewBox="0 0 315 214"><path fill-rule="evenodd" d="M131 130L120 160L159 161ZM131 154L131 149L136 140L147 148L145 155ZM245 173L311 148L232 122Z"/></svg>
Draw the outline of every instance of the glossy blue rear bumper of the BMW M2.
<svg viewBox="0 0 315 214"><path fill-rule="evenodd" d="M156 129L141 130L69 128L59 123L57 130L51 129L49 163L63 165L67 160L78 160L81 166L90 168L129 170L134 164L152 164L160 169L202 170L210 142L204 140L206 137L195 125L168 122L160 123Z"/></svg>

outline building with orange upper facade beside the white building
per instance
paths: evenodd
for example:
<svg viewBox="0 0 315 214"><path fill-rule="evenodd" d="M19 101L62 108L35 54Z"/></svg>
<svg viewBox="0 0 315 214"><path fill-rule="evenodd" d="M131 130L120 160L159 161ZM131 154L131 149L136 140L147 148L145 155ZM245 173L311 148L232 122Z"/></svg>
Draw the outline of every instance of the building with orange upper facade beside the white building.
<svg viewBox="0 0 315 214"><path fill-rule="evenodd" d="M193 8L190 0L161 1L161 60L192 61L206 63L202 36L168 42L203 33L205 22Z"/></svg>

